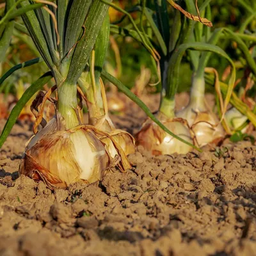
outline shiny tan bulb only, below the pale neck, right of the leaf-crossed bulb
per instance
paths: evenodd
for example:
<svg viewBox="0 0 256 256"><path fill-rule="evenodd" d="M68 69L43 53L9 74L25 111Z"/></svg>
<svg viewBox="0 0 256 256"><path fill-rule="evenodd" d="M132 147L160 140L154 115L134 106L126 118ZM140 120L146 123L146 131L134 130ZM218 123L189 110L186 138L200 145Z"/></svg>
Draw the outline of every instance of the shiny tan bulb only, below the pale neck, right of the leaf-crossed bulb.
<svg viewBox="0 0 256 256"><path fill-rule="evenodd" d="M189 127L195 134L196 143L199 147L203 147L208 143L218 141L225 135L217 116L206 107L202 109L193 109L187 106L176 113L177 116L188 121Z"/></svg>

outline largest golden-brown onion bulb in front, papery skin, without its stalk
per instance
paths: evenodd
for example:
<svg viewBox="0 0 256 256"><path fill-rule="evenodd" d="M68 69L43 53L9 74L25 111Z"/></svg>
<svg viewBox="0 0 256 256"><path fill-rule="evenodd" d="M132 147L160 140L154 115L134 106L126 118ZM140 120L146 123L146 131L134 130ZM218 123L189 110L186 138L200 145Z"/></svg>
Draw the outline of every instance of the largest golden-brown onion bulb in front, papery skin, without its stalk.
<svg viewBox="0 0 256 256"><path fill-rule="evenodd" d="M49 125L45 128L49 129ZM44 129L29 141L20 162L20 174L43 180L51 189L67 187L78 180L91 183L102 179L110 158L104 143L92 131Z"/></svg>

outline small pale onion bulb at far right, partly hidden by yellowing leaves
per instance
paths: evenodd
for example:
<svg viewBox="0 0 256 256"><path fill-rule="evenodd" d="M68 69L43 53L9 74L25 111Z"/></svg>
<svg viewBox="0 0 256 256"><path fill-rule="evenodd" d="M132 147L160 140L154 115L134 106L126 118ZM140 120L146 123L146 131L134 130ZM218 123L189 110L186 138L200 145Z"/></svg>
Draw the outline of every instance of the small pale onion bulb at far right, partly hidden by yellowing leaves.
<svg viewBox="0 0 256 256"><path fill-rule="evenodd" d="M239 112L236 108L230 108L225 113L225 120L227 121L228 127L230 127L231 131L236 131L241 125L243 125L247 116L244 116L241 112ZM241 132L246 132L248 125L242 129Z"/></svg>

